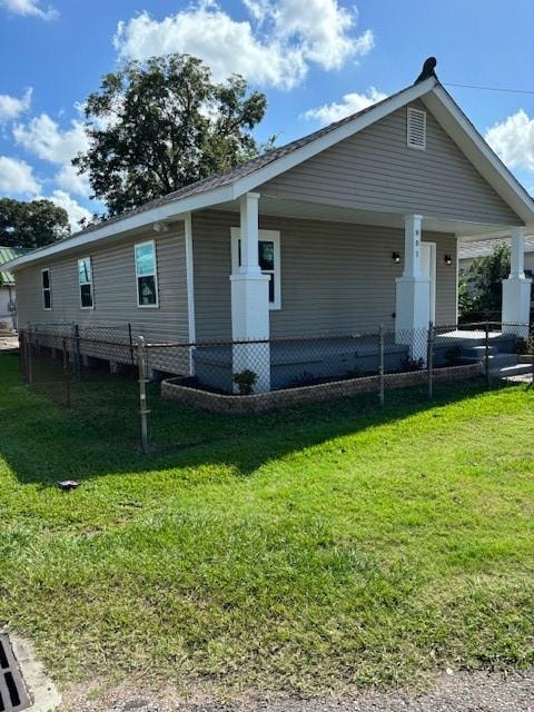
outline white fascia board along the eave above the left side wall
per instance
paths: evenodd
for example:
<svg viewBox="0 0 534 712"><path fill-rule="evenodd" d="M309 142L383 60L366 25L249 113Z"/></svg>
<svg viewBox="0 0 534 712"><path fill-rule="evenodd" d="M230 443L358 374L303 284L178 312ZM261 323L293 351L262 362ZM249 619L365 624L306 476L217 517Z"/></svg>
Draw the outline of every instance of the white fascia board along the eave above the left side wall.
<svg viewBox="0 0 534 712"><path fill-rule="evenodd" d="M125 216L121 220L113 221L110 225L105 224L102 227L96 228L90 233L82 233L79 236L65 241L61 240L59 243L53 243L52 245L47 245L47 247L41 247L29 255L23 255L18 259L7 263L6 266L2 265L2 269L17 270L38 260L49 259L56 255L77 249L79 247L86 247L107 238L122 237L125 233L151 225L152 222L162 222L169 219L180 220L185 218L185 214L191 210L199 210L211 205L226 202L227 200L231 200L230 185L214 188L212 190L207 190L206 192L200 192L198 195L184 198L182 200L168 202L166 205L158 206L157 208L144 210L132 215L131 217Z"/></svg>

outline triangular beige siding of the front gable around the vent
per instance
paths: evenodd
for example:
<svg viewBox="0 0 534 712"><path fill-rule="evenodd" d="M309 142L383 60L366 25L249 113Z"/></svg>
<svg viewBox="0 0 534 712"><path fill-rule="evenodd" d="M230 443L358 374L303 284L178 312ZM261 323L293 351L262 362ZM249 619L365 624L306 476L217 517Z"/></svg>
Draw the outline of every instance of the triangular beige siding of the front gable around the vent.
<svg viewBox="0 0 534 712"><path fill-rule="evenodd" d="M257 190L279 198L392 212L521 225L421 101L426 149L406 145L407 107L269 180Z"/></svg>

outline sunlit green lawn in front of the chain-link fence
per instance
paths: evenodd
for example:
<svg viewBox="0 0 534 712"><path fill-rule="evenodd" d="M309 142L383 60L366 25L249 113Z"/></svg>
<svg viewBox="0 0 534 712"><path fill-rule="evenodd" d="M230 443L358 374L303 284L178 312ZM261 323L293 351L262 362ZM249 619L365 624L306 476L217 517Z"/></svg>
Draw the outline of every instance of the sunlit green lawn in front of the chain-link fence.
<svg viewBox="0 0 534 712"><path fill-rule="evenodd" d="M14 356L0 384L0 620L60 681L320 691L534 664L524 386L249 418L154 404L181 447L144 458L21 386Z"/></svg>

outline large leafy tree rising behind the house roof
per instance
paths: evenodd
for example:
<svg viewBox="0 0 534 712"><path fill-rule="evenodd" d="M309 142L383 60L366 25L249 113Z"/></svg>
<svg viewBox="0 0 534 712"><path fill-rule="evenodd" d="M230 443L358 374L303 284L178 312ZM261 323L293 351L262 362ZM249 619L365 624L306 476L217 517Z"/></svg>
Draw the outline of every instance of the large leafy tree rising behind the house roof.
<svg viewBox="0 0 534 712"><path fill-rule="evenodd" d="M255 156L265 109L241 77L214 83L188 55L131 61L87 99L90 145L73 165L118 215Z"/></svg>

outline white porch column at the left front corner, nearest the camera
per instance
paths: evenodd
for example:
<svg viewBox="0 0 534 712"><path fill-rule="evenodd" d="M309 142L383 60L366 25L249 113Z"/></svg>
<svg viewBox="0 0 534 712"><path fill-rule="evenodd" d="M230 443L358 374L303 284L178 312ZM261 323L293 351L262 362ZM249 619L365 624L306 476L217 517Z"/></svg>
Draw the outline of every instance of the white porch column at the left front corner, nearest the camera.
<svg viewBox="0 0 534 712"><path fill-rule="evenodd" d="M240 265L230 276L231 336L234 342L256 342L269 338L269 276L258 264L257 192L240 199ZM267 343L235 344L233 375L251 370L256 375L255 393L270 390L270 347ZM234 390L239 392L237 384Z"/></svg>

